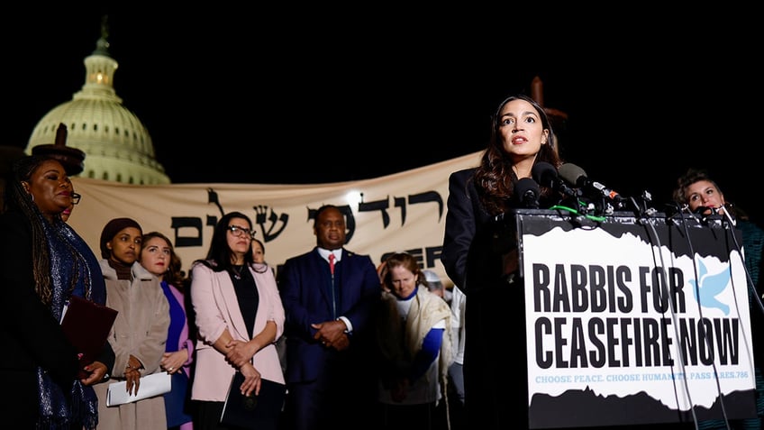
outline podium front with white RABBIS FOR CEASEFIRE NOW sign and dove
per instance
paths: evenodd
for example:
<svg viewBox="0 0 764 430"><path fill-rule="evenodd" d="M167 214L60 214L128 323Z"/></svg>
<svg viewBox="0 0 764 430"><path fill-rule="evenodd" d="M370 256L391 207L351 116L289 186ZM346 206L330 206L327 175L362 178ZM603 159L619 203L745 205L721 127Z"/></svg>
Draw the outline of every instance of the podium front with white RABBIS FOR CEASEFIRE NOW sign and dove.
<svg viewBox="0 0 764 430"><path fill-rule="evenodd" d="M514 213L530 428L756 416L741 234L725 220Z"/></svg>

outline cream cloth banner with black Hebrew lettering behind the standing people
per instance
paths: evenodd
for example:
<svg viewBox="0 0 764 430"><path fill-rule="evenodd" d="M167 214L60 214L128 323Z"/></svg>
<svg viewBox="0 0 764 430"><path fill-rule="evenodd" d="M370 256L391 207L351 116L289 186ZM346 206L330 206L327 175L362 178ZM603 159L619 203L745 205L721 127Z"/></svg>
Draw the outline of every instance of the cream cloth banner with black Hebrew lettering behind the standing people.
<svg viewBox="0 0 764 430"><path fill-rule="evenodd" d="M98 241L109 220L127 216L143 233L167 235L184 270L204 259L221 215L249 215L256 237L265 243L266 261L279 266L315 246L314 210L341 206L352 251L379 264L389 252L411 252L423 269L451 285L441 264L448 179L451 172L477 166L480 153L446 160L381 178L329 184L175 184L127 185L73 178L82 200L68 223L100 258Z"/></svg>

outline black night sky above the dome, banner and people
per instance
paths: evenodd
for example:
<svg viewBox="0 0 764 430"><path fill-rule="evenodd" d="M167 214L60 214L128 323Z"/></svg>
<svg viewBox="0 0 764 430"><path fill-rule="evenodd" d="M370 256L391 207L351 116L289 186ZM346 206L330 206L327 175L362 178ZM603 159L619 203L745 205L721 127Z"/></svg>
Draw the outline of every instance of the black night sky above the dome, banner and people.
<svg viewBox="0 0 764 430"><path fill-rule="evenodd" d="M561 154L589 178L660 209L681 173L705 168L762 214L750 11L252 7L5 14L5 144L26 146L80 90L108 14L117 96L174 183L376 178L480 151L496 105L538 76L544 105L568 114Z"/></svg>

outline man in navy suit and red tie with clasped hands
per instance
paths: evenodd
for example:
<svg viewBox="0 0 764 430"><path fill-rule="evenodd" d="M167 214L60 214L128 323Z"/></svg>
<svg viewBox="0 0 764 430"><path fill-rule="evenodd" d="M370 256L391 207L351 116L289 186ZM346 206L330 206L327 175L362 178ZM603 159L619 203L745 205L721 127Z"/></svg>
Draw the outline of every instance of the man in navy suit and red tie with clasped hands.
<svg viewBox="0 0 764 430"><path fill-rule="evenodd" d="M340 208L320 207L316 246L279 270L288 430L358 428L352 417L374 411L373 313L381 288L371 258L343 248L346 233Z"/></svg>

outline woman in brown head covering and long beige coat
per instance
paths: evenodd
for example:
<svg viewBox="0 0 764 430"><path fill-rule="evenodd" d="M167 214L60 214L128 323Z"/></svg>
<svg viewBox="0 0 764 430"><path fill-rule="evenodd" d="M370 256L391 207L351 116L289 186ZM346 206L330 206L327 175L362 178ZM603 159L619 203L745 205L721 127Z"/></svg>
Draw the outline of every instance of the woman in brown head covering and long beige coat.
<svg viewBox="0 0 764 430"><path fill-rule="evenodd" d="M101 270L108 299L119 314L112 343L115 381L125 381L129 393L141 389L141 376L164 371L160 362L168 339L169 305L159 279L141 266L143 232L132 218L114 218L101 232ZM162 396L106 407L105 387L98 394L99 427L130 430L166 430Z"/></svg>

